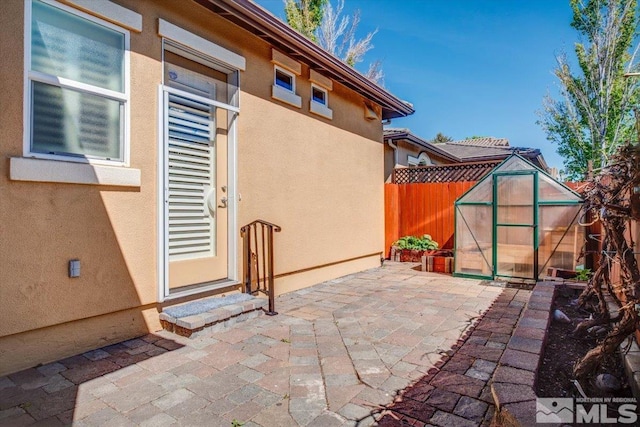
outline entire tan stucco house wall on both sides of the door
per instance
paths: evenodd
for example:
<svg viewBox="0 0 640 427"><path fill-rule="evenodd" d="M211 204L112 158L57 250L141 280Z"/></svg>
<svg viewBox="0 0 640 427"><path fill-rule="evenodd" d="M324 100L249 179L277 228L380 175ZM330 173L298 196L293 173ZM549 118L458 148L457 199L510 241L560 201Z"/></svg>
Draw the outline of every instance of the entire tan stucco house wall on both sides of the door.
<svg viewBox="0 0 640 427"><path fill-rule="evenodd" d="M263 40L195 3L116 3L144 16L142 33L131 32L130 167L141 171L139 188L9 180L9 159L23 150L24 3L0 2L0 374L158 327L149 314L156 310L158 287L158 18L247 59L241 73L238 224L261 218L282 226L276 273L368 256L286 276L277 282L278 293L378 263L382 127L364 119L361 96L334 82L333 120L309 113L309 69L303 66L297 91L302 108L282 104L271 99L271 46ZM70 259L80 259L80 278L68 278ZM131 319L120 322L123 313ZM48 340L38 344L45 332Z"/></svg>

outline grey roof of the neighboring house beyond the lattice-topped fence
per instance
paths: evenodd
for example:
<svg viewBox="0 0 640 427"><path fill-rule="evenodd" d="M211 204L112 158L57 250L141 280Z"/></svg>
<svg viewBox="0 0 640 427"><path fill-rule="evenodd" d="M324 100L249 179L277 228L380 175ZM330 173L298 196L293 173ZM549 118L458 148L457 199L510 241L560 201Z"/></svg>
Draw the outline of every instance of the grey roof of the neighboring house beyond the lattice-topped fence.
<svg viewBox="0 0 640 427"><path fill-rule="evenodd" d="M511 147L506 138L474 138L434 144L415 136L408 129L385 129L384 138L409 141L454 163L499 161L517 153L542 169L549 169L539 149Z"/></svg>

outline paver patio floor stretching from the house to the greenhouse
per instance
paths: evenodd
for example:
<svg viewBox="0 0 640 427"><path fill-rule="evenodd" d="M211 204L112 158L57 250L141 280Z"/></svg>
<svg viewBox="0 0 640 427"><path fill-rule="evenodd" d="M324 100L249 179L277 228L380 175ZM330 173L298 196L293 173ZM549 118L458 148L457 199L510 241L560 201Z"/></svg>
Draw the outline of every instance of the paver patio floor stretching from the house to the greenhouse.
<svg viewBox="0 0 640 427"><path fill-rule="evenodd" d="M158 332L0 377L0 425L480 425L527 292L387 262L225 332Z"/></svg>

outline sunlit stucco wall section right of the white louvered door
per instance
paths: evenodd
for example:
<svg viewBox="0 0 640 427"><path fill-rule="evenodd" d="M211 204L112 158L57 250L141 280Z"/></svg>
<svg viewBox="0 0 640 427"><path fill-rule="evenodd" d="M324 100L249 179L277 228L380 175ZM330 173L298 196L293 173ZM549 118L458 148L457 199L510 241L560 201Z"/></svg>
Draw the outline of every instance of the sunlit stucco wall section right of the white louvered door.
<svg viewBox="0 0 640 427"><path fill-rule="evenodd" d="M282 226L276 274L380 252L382 145L251 94L242 101L241 114L262 120L241 126L239 221ZM260 132L272 137L244 137Z"/></svg>

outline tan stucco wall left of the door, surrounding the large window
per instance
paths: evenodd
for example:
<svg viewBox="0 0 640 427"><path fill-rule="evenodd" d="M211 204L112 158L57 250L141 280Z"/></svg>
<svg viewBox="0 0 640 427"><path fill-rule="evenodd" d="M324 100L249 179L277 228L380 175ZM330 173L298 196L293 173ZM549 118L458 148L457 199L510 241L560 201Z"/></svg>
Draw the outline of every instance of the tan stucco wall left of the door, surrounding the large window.
<svg viewBox="0 0 640 427"><path fill-rule="evenodd" d="M2 52L12 53L0 65L0 93L13 100L0 115L2 336L156 301L157 80L145 75L160 75L160 54L132 34L130 163L142 171L139 188L10 181L8 159L23 146L23 5L0 5ZM79 278L68 278L70 259L81 262Z"/></svg>

